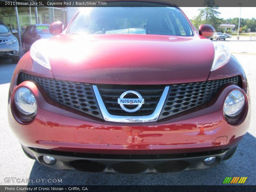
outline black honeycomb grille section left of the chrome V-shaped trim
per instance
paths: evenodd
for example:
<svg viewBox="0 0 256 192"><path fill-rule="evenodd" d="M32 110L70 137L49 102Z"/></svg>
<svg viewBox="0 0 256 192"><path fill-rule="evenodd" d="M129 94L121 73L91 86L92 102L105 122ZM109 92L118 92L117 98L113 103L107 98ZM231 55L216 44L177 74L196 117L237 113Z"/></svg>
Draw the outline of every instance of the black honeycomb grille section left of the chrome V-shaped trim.
<svg viewBox="0 0 256 192"><path fill-rule="evenodd" d="M103 119L91 84L62 81L20 73L18 82L21 83L26 80L32 80L39 84L52 100L88 115Z"/></svg>

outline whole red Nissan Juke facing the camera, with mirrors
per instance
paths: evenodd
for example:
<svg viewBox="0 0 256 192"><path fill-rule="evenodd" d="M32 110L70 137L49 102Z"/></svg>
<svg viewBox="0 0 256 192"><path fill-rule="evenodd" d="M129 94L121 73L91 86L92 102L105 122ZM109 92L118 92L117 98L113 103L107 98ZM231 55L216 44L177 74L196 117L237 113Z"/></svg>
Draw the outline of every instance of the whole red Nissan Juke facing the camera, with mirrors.
<svg viewBox="0 0 256 192"><path fill-rule="evenodd" d="M250 124L244 70L214 29L172 4L82 8L36 41L11 81L25 154L55 169L166 173L210 168Z"/></svg>

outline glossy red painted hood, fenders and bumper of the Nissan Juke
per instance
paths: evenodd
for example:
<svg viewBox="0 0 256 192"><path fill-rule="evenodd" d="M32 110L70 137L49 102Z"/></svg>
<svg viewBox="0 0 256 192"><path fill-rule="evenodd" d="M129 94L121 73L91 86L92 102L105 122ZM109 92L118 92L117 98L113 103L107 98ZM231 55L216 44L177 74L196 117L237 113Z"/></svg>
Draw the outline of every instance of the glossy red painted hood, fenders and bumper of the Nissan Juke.
<svg viewBox="0 0 256 192"><path fill-rule="evenodd" d="M210 72L214 47L205 37L197 34L81 37L63 32L53 37L50 45L51 70L34 62L28 52L12 77L8 118L23 146L100 154L202 152L235 147L249 127L250 94L244 71L231 56L227 64ZM65 52L65 47L70 52ZM54 102L33 82L17 84L20 72L92 84L177 84L240 75L242 88L227 84L207 104L158 122L110 123ZM30 123L19 121L12 112L15 90L21 86L29 88L37 101L37 114ZM223 115L223 103L235 89L244 93L246 107L239 124L231 125ZM130 135L140 139L129 140Z"/></svg>

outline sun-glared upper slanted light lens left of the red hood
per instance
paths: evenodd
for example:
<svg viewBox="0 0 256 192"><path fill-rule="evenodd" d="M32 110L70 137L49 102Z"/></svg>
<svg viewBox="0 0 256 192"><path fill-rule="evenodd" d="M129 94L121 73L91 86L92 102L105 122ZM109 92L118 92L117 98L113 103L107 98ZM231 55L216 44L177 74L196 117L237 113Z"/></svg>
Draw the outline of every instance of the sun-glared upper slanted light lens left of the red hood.
<svg viewBox="0 0 256 192"><path fill-rule="evenodd" d="M40 65L51 69L48 58L49 39L39 39L31 45L30 56Z"/></svg>

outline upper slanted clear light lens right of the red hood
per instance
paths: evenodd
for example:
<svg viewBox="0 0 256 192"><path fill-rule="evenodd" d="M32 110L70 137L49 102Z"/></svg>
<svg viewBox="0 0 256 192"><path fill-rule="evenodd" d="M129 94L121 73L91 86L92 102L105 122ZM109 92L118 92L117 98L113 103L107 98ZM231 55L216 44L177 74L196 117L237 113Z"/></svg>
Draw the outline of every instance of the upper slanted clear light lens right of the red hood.
<svg viewBox="0 0 256 192"><path fill-rule="evenodd" d="M230 59L230 51L225 45L216 44L214 45L214 49L215 54L211 71L220 68L222 65L225 65Z"/></svg>

